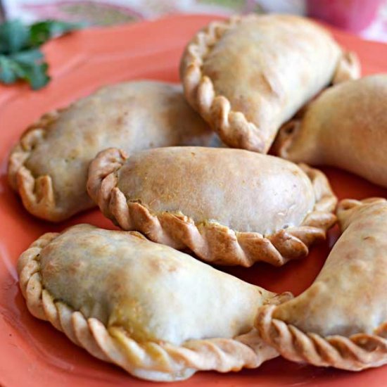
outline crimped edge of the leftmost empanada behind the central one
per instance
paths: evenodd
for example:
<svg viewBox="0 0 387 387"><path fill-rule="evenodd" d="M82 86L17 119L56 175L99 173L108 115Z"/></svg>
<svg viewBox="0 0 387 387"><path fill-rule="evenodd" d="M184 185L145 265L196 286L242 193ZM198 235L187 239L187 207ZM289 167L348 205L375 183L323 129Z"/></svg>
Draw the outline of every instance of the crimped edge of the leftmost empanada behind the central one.
<svg viewBox="0 0 387 387"><path fill-rule="evenodd" d="M28 127L20 137L8 159L8 182L20 195L26 210L32 215L51 222L60 222L68 214L58 208L53 191L51 176L34 177L25 166L34 146L44 141L47 127L58 118L61 110L52 110L42 115L33 125Z"/></svg>

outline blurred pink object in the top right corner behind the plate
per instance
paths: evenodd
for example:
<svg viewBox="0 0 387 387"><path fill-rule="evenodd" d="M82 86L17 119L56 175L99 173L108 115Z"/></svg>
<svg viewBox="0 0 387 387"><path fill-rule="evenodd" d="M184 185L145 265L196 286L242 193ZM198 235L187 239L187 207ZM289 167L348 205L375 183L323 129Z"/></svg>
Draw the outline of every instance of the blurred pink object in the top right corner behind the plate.
<svg viewBox="0 0 387 387"><path fill-rule="evenodd" d="M345 30L360 32L376 18L386 0L307 0L307 15Z"/></svg>

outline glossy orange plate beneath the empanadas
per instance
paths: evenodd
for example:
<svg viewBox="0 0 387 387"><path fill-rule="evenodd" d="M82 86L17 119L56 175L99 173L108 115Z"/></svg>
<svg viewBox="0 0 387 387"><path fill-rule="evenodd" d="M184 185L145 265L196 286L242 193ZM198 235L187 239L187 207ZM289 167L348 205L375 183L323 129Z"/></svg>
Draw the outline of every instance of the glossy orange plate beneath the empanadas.
<svg viewBox="0 0 387 387"><path fill-rule="evenodd" d="M6 182L6 160L25 127L53 108L94 91L104 84L152 78L178 82L179 57L184 45L213 16L175 15L153 22L94 29L56 39L46 47L53 80L41 91L25 84L0 86L0 385L4 387L139 386L148 384L120 368L91 357L48 322L30 315L18 288L15 272L20 253L46 231L61 231L70 224L90 222L113 225L97 211L53 225L30 216ZM334 31L341 44L359 53L363 73L387 71L387 45L364 42ZM339 198L387 196L387 191L334 169L324 168ZM258 264L251 269L227 268L241 279L272 291L298 294L309 286L337 239L337 230L316 246L305 260L278 269ZM205 318L205 316L203 316ZM294 364L277 358L259 369L239 373L199 372L184 386L386 386L387 367L360 373ZM154 384L153 384L154 386Z"/></svg>

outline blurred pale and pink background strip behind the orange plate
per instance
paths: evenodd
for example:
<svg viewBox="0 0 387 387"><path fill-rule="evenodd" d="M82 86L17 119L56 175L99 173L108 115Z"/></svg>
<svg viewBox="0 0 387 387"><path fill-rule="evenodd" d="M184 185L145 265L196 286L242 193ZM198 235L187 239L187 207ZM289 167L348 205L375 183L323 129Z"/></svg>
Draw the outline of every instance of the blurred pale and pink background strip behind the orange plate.
<svg viewBox="0 0 387 387"><path fill-rule="evenodd" d="M55 18L116 25L169 13L249 12L310 15L365 39L387 42L386 0L0 0L0 20L26 22Z"/></svg>

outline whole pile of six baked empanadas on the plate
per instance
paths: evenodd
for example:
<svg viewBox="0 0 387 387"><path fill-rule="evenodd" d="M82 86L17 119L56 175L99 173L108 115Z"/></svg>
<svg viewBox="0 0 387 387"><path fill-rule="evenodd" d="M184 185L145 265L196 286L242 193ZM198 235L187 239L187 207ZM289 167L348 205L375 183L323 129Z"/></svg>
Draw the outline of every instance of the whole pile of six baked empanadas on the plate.
<svg viewBox="0 0 387 387"><path fill-rule="evenodd" d="M30 213L59 222L97 205L122 229L77 224L32 243L18 260L32 315L154 381L279 354L386 364L387 201L336 210L307 164L387 187L387 75L356 80L355 54L291 15L211 23L180 70L182 88L116 84L48 113L11 151ZM306 258L337 219L343 234L296 298L208 265Z"/></svg>

